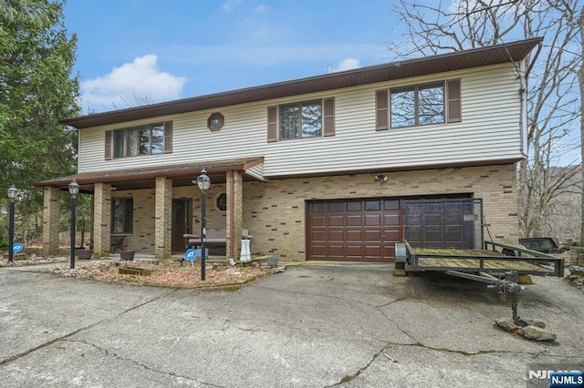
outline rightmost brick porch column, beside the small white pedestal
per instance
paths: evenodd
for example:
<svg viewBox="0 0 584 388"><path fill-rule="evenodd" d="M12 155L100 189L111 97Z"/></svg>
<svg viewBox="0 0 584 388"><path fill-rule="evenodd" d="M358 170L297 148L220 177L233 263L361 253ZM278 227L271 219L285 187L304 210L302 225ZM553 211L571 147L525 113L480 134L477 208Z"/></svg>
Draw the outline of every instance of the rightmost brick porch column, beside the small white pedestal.
<svg viewBox="0 0 584 388"><path fill-rule="evenodd" d="M239 260L241 256L241 229L243 225L243 178L241 171L227 171L227 250L226 259Z"/></svg>

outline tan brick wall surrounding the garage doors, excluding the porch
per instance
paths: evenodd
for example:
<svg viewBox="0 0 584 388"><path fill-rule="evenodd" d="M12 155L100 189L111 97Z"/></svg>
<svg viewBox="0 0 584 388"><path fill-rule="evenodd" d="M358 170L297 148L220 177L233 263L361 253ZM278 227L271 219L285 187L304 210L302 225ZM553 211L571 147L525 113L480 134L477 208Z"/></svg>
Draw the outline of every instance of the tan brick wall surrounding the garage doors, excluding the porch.
<svg viewBox="0 0 584 388"><path fill-rule="evenodd" d="M515 165L443 168L310 179L249 182L244 187L244 225L254 234L253 254L275 254L283 260L305 260L305 200L403 197L472 193L483 199L492 239L516 242ZM485 230L485 240L490 240Z"/></svg>

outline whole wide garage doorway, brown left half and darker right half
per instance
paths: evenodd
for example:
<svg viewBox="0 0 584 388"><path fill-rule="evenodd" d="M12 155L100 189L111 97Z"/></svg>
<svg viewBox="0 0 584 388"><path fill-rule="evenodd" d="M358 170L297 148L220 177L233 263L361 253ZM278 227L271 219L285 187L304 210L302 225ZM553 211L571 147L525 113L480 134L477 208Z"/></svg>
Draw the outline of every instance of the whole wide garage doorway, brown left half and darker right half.
<svg viewBox="0 0 584 388"><path fill-rule="evenodd" d="M480 199L345 199L307 203L307 259L393 261L395 243L474 249L482 243Z"/></svg>

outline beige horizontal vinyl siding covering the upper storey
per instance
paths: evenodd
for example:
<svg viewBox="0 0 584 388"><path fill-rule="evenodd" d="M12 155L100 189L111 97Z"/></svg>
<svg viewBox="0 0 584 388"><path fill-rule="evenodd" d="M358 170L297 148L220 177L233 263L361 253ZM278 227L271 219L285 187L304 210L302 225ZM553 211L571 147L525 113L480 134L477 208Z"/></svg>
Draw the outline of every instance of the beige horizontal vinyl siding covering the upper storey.
<svg viewBox="0 0 584 388"><path fill-rule="evenodd" d="M451 78L461 79L462 122L375 130L376 90ZM79 172L263 156L263 174L277 177L522 158L519 87L515 67L507 64L215 108L225 117L218 132L206 128L212 111L156 117L131 125L172 120L172 153L112 160L104 160L105 130L130 123L85 128ZM327 97L335 97L334 136L267 142L267 107Z"/></svg>

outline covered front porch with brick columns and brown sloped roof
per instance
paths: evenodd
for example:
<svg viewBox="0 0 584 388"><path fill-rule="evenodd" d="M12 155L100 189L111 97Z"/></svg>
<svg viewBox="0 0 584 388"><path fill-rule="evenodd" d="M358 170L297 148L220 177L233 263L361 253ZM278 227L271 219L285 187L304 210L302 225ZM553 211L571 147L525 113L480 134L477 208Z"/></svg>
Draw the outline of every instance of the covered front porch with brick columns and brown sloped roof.
<svg viewBox="0 0 584 388"><path fill-rule="evenodd" d="M204 168L211 179L207 197L223 195L223 209L216 209L214 200L207 201L205 207L206 227L226 230L224 255L214 256L237 261L244 227L243 182L261 180L255 167L262 161L263 158L255 158L204 166L99 171L39 182L37 185L44 188L43 253L55 254L58 250L61 196L68 195L68 183L76 180L80 193L92 196L94 257L113 257L111 244L123 236L124 250L158 260L181 258L183 234L201 232L202 192L192 181ZM127 216L120 219L124 207Z"/></svg>

